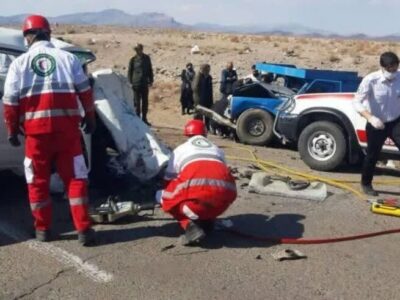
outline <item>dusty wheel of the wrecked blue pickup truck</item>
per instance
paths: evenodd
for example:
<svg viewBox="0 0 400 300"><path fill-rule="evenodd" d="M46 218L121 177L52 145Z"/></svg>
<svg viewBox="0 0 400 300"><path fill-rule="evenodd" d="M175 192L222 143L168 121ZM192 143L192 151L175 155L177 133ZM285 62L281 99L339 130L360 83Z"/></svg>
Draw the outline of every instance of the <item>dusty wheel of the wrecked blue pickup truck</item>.
<svg viewBox="0 0 400 300"><path fill-rule="evenodd" d="M274 119L270 113L261 109L249 109L240 115L236 133L242 143L264 146L274 137L273 125Z"/></svg>

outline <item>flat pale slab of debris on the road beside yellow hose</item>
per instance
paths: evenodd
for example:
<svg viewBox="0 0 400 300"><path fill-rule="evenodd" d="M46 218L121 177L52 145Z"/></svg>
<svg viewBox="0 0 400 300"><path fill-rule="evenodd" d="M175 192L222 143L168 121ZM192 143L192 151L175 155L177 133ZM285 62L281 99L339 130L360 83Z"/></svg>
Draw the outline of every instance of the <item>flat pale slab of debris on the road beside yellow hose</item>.
<svg viewBox="0 0 400 300"><path fill-rule="evenodd" d="M296 181L290 177L270 176L264 172L253 174L249 193L313 201L323 201L328 197L326 184L322 182Z"/></svg>

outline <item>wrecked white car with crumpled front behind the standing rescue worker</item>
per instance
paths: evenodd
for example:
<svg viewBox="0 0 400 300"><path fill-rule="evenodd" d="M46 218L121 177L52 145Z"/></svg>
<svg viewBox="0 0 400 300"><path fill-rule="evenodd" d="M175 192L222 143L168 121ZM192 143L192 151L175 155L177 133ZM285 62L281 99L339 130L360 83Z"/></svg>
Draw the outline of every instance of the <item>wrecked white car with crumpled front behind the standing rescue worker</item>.
<svg viewBox="0 0 400 300"><path fill-rule="evenodd" d="M52 43L74 53L82 65L96 59L90 50L59 39L52 39ZM19 30L0 28L1 97L10 63L26 50ZM99 178L112 172L117 175L128 173L141 181L156 176L168 162L169 150L156 140L150 129L135 115L132 90L126 78L112 70L94 72L93 90L98 129L93 136L83 135L82 139L90 175ZM0 105L0 114L3 115L3 105ZM23 174L23 157L23 147L11 147L5 124L0 122L0 170Z"/></svg>

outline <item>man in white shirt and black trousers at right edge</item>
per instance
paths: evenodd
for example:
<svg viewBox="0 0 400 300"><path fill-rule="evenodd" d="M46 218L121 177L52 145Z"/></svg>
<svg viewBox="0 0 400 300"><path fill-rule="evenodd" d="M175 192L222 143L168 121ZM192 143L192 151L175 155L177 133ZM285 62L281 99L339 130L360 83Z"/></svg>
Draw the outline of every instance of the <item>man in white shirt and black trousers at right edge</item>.
<svg viewBox="0 0 400 300"><path fill-rule="evenodd" d="M390 137L400 149L399 58L393 52L380 57L381 70L367 75L354 98L354 108L367 120L367 154L361 174L361 189L377 196L372 187L375 165L385 140Z"/></svg>

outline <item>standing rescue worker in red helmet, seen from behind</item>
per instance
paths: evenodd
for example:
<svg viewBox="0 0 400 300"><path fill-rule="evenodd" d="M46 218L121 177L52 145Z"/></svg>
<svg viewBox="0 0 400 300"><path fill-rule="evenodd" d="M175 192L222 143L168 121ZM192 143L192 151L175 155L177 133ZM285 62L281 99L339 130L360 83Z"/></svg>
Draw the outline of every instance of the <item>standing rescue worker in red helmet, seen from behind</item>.
<svg viewBox="0 0 400 300"><path fill-rule="evenodd" d="M20 128L25 134L25 177L36 239L46 242L51 238L49 181L55 165L68 192L78 240L90 245L94 231L88 215L88 172L79 126L83 121L87 133L95 129L92 90L79 59L50 42L46 18L27 17L23 34L29 50L10 65L3 103L11 145L20 146Z"/></svg>

